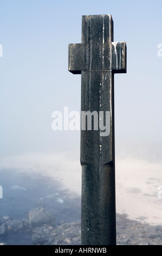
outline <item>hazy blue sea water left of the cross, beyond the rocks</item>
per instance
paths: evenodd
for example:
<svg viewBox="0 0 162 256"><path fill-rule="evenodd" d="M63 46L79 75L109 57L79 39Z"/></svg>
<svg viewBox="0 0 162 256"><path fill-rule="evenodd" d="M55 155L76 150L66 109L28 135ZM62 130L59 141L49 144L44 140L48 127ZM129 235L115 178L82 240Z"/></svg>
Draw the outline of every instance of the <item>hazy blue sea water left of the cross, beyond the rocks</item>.
<svg viewBox="0 0 162 256"><path fill-rule="evenodd" d="M12 216L14 220L28 218L32 208L43 205L51 211L56 224L64 220L67 223L81 220L81 198L70 197L68 190L61 190L61 184L51 177L39 174L0 170L0 185L3 187L3 199L0 199L0 217ZM28 234L8 235L0 242L8 245L30 245Z"/></svg>

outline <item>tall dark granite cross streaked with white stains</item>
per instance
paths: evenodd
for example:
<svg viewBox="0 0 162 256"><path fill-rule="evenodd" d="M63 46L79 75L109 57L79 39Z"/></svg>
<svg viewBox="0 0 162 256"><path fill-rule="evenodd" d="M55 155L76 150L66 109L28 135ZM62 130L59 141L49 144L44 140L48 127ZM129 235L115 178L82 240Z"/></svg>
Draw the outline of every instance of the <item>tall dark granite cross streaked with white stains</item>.
<svg viewBox="0 0 162 256"><path fill-rule="evenodd" d="M81 114L86 113L81 118L81 243L115 245L114 73L126 73L126 43L113 42L111 15L82 16L82 42L69 44L68 65L81 74ZM98 126L82 129L85 116L88 126L87 113L94 122L94 114L103 113L102 126L100 117Z"/></svg>

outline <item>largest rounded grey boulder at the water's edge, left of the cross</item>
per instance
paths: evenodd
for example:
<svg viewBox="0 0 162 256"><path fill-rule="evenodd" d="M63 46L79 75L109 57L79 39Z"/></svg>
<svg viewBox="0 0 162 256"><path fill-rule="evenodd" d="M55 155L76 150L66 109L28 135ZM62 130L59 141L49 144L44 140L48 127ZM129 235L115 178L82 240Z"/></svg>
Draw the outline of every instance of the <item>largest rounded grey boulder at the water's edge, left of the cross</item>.
<svg viewBox="0 0 162 256"><path fill-rule="evenodd" d="M31 209L29 212L29 224L32 227L41 227L44 224L55 224L55 217L45 208Z"/></svg>

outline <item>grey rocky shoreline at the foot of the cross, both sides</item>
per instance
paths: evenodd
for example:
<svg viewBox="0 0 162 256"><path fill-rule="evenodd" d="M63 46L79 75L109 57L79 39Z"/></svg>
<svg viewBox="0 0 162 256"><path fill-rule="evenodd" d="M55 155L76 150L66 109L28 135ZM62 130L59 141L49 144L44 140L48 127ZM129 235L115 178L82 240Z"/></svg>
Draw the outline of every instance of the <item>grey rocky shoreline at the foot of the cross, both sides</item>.
<svg viewBox="0 0 162 256"><path fill-rule="evenodd" d="M0 218L0 245L8 245L9 237L28 237L30 245L81 245L80 221L55 224L55 216L46 208L31 209L28 218ZM116 214L117 245L161 245L162 226L132 221L125 214ZM18 241L17 241L18 243Z"/></svg>

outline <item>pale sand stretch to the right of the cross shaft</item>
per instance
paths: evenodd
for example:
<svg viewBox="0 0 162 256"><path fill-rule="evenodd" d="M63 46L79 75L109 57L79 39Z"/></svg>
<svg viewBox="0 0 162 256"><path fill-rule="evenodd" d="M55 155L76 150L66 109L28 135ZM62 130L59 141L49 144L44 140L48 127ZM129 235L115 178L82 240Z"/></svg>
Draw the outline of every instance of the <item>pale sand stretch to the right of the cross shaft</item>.
<svg viewBox="0 0 162 256"><path fill-rule="evenodd" d="M162 224L162 163L116 160L116 211L132 220Z"/></svg>

